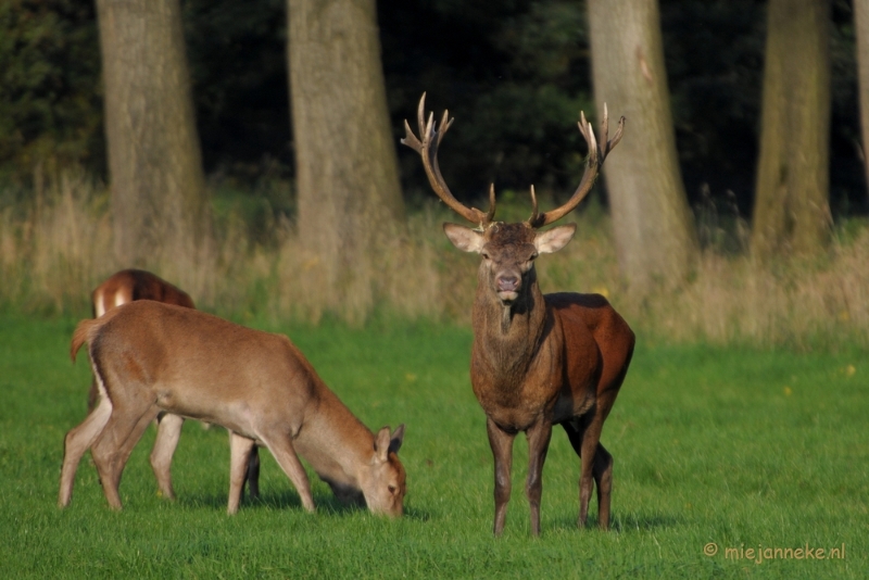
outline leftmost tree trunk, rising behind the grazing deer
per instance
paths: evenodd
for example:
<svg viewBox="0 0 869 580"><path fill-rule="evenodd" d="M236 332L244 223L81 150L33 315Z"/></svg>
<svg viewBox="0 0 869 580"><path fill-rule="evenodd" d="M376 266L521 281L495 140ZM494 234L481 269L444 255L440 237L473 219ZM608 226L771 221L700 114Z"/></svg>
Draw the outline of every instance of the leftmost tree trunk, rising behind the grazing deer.
<svg viewBox="0 0 869 580"><path fill-rule="evenodd" d="M178 0L97 0L115 254L188 255L207 227Z"/></svg>

